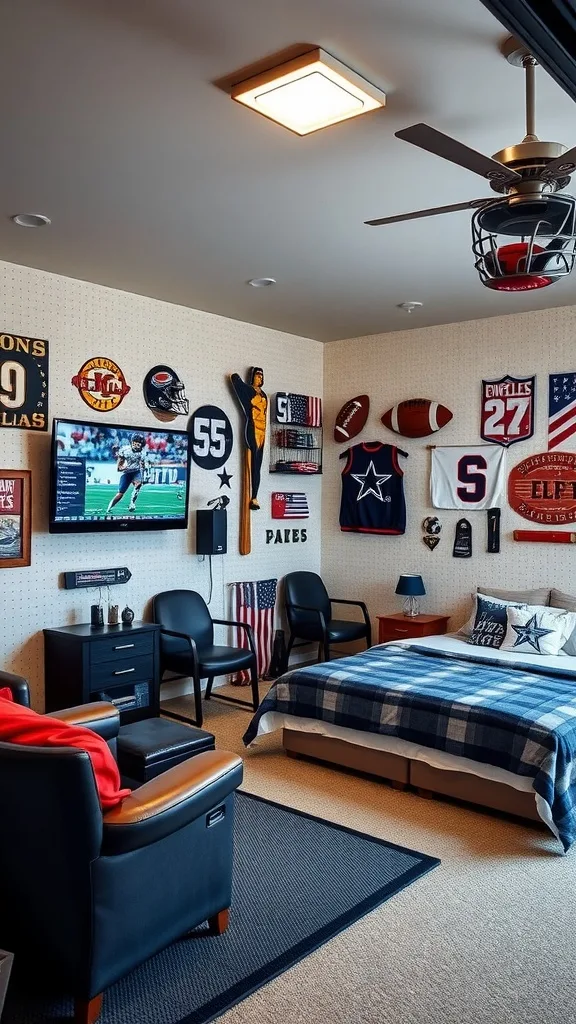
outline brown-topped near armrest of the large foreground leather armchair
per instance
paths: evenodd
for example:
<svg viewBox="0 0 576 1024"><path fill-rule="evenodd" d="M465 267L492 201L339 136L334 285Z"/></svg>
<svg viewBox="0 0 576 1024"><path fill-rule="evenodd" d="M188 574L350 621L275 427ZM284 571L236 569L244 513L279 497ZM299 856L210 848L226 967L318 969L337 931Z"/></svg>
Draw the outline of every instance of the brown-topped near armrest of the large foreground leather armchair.
<svg viewBox="0 0 576 1024"><path fill-rule="evenodd" d="M242 782L242 759L206 751L145 782L104 815L102 853L149 846L222 803Z"/></svg>

